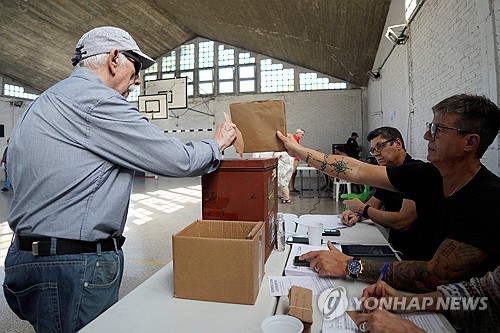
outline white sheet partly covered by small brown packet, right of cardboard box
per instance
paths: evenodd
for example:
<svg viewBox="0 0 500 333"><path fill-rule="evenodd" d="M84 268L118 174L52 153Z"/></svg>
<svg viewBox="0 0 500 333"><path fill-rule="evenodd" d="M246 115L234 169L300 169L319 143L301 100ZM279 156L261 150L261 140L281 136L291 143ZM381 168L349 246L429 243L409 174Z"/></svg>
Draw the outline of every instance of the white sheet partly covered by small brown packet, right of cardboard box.
<svg viewBox="0 0 500 333"><path fill-rule="evenodd" d="M320 295L324 290L335 287L333 281L319 276L268 276L271 296L287 296L292 286L308 288L313 295Z"/></svg>

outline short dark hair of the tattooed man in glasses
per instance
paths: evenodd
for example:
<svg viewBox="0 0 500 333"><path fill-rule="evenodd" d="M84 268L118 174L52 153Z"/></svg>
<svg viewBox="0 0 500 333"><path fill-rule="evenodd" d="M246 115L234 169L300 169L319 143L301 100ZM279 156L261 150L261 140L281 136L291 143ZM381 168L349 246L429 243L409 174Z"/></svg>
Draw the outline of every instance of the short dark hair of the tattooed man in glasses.
<svg viewBox="0 0 500 333"><path fill-rule="evenodd" d="M443 113L457 113L455 126L481 138L476 156L481 158L495 140L500 127L500 110L486 96L460 94L443 99L432 107L435 116Z"/></svg>

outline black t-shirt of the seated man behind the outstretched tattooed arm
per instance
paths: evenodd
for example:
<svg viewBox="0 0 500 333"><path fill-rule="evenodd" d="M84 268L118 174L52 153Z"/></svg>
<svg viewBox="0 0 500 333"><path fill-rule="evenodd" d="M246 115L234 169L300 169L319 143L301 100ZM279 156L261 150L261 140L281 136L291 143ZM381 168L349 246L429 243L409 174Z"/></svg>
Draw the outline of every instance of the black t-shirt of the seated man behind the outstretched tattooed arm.
<svg viewBox="0 0 500 333"><path fill-rule="evenodd" d="M406 154L403 163L423 162L414 160L410 154ZM403 199L408 199L404 193L379 188L375 190L373 196L382 201L384 209L388 212L399 212L403 205ZM426 242L424 236L418 218L406 231L389 229L389 243L403 254L403 260L429 260L432 258L434 252L429 250L431 246L422 246Z"/></svg>

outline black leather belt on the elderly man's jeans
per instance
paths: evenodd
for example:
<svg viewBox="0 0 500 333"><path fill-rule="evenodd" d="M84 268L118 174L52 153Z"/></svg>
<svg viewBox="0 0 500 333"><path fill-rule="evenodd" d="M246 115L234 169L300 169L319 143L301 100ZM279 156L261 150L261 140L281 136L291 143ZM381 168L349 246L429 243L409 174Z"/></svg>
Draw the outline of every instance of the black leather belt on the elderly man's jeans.
<svg viewBox="0 0 500 333"><path fill-rule="evenodd" d="M34 256L50 256L51 237L16 235L17 246L21 251L31 251ZM125 237L107 238L96 242L56 238L56 255L96 253L98 251L115 251L121 249ZM116 242L116 245L115 245ZM100 245L100 250L99 250Z"/></svg>

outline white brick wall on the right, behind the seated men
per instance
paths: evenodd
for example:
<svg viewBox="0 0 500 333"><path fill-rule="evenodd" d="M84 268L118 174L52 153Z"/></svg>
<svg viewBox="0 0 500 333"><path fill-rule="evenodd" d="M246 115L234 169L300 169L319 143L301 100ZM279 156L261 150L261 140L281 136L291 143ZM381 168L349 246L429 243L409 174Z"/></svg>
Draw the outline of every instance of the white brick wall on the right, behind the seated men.
<svg viewBox="0 0 500 333"><path fill-rule="evenodd" d="M494 6L489 6L492 3ZM486 82L484 73L491 61L498 68L498 40L486 35L486 31L493 26L498 31L500 24L498 19L488 21L484 16L494 16L489 8L495 8L498 16L498 3L426 0L410 24L407 43L395 47L381 70L382 79L370 82L368 113L382 109L383 125L397 127L406 135L414 157L427 156L422 136L425 123L432 119L434 104L456 93L484 94L497 100L498 89L491 92L491 83ZM488 43L496 43L496 55L488 51ZM380 97L382 102L377 102ZM369 117L368 128L380 126L379 121ZM492 145L483 163L498 174L497 146Z"/></svg>

